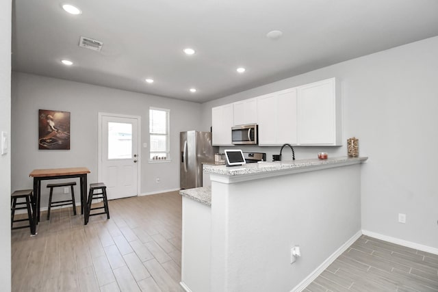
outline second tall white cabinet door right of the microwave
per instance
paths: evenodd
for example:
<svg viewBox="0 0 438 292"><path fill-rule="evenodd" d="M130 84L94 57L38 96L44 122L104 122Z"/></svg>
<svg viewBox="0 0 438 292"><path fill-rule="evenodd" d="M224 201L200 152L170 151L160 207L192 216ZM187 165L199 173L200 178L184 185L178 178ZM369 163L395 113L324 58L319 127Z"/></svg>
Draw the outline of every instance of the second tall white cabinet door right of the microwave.
<svg viewBox="0 0 438 292"><path fill-rule="evenodd" d="M276 94L276 144L296 144L296 88Z"/></svg>

